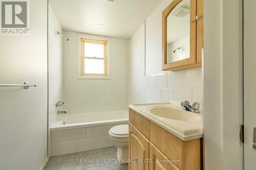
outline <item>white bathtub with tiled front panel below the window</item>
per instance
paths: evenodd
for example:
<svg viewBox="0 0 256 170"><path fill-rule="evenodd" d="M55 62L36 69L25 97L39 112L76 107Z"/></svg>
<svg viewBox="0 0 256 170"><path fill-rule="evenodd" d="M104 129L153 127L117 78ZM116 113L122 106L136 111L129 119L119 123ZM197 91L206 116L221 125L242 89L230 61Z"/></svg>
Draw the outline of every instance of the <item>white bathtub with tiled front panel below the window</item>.
<svg viewBox="0 0 256 170"><path fill-rule="evenodd" d="M127 110L59 115L50 128L50 155L110 147L109 130L127 124L128 117Z"/></svg>

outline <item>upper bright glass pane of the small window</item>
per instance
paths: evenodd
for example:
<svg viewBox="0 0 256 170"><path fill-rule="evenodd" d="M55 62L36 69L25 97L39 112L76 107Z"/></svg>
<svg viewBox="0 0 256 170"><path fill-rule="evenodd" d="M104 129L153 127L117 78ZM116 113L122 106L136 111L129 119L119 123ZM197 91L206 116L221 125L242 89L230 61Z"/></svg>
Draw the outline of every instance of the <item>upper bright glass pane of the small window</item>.
<svg viewBox="0 0 256 170"><path fill-rule="evenodd" d="M83 43L85 57L104 58L104 44Z"/></svg>

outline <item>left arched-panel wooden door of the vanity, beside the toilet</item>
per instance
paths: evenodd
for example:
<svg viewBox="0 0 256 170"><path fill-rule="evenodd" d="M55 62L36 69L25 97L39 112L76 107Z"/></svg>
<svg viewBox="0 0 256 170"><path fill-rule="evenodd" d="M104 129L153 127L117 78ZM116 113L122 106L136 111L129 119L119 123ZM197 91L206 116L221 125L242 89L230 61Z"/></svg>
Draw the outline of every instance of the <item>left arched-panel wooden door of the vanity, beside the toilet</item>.
<svg viewBox="0 0 256 170"><path fill-rule="evenodd" d="M148 169L150 141L129 123L129 169Z"/></svg>

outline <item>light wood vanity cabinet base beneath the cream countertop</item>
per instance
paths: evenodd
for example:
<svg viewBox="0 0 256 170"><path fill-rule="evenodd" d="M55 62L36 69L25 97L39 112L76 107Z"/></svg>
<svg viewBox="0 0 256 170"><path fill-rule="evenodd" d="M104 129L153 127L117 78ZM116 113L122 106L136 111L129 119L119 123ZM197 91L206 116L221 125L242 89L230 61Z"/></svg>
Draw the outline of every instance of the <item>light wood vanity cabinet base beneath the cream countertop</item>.
<svg viewBox="0 0 256 170"><path fill-rule="evenodd" d="M130 109L129 159L130 170L201 170L202 138L183 141Z"/></svg>

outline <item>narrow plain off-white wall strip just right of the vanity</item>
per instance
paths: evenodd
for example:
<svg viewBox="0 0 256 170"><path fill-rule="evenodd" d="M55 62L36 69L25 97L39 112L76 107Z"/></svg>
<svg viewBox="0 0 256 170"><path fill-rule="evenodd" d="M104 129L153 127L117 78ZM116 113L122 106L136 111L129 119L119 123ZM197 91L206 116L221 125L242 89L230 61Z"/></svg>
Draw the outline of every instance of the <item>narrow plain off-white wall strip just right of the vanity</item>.
<svg viewBox="0 0 256 170"><path fill-rule="evenodd" d="M222 169L222 0L204 1L203 60L204 166L206 170Z"/></svg>

